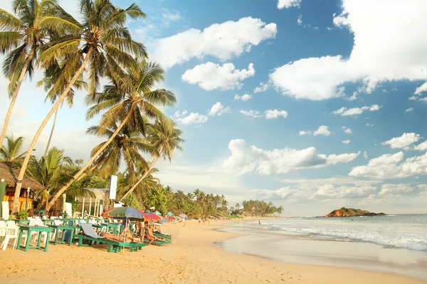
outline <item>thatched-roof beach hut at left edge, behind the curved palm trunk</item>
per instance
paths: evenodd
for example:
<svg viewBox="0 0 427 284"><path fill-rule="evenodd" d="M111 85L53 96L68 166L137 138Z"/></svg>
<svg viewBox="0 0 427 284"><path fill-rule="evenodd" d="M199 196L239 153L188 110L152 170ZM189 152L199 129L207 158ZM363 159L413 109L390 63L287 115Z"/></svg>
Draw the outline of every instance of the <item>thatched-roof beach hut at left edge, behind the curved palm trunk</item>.
<svg viewBox="0 0 427 284"><path fill-rule="evenodd" d="M16 177L19 175L19 170L12 169L6 164L0 163L0 182L4 180L6 185L5 190L0 187L0 200L9 202L9 212L14 202ZM41 190L43 185L37 180L24 176L22 180L21 194L19 195L19 209L32 209L33 202L36 199L36 192Z"/></svg>

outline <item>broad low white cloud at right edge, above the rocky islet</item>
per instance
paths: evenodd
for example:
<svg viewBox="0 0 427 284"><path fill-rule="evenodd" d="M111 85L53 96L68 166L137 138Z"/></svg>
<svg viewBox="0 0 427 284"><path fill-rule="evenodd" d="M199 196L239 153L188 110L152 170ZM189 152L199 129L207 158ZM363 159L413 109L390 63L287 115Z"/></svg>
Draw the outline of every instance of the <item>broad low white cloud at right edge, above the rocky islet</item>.
<svg viewBox="0 0 427 284"><path fill-rule="evenodd" d="M427 173L427 153L403 159L403 152L381 155L369 160L368 165L353 168L349 175L366 178L406 178Z"/></svg>

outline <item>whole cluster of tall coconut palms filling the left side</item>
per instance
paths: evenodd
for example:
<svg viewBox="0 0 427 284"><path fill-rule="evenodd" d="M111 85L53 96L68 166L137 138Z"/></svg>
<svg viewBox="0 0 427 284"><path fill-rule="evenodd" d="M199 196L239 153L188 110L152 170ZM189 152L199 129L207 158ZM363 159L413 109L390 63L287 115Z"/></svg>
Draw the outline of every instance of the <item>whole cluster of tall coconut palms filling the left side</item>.
<svg viewBox="0 0 427 284"><path fill-rule="evenodd" d="M38 86L44 86L46 100L53 107L28 150L19 155L13 153L19 160L20 171L12 213L18 212L22 179L28 172L45 182L42 184L46 192L41 196L49 210L58 197L85 176L117 174L124 160L129 190L122 195L129 197L139 184L150 179L157 160L170 160L176 148L181 150L179 143L183 142L176 124L158 109L172 107L176 102L172 92L156 89L164 80L164 70L148 61L144 45L132 40L126 27L128 20L145 18L145 14L136 4L122 9L110 0L81 0L80 21L56 0L15 0L13 9L14 14L0 9L0 53L6 55L3 71L9 79L11 98L0 136L2 151L6 153L3 141L21 84L25 77L31 79L36 68L43 70L44 77ZM102 87L101 80L108 83ZM107 141L93 149L85 165L75 166L63 156L63 151L49 149L52 129L45 154L37 160L32 152L46 124L53 114L56 120L65 99L72 106L75 89L81 88L88 93L86 118L100 116L99 125L90 127L88 133ZM73 143L78 143L78 139ZM14 139L8 137L7 141ZM22 138L16 143L22 145ZM7 151L12 148L13 145L8 146ZM144 154L151 161L145 160ZM58 172L67 175L58 177Z"/></svg>

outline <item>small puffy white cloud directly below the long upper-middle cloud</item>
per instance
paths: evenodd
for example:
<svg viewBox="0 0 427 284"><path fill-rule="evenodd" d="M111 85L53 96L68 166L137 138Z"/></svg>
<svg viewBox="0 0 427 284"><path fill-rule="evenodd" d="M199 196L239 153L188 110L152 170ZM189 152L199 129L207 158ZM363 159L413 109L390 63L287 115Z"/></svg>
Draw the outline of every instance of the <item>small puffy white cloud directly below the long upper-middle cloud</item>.
<svg viewBox="0 0 427 284"><path fill-rule="evenodd" d="M252 63L249 64L248 70L238 70L233 63L224 63L221 66L213 62L206 62L186 70L182 75L182 80L189 84L198 84L206 91L240 89L243 86L241 81L253 75L255 75L255 69Z"/></svg>

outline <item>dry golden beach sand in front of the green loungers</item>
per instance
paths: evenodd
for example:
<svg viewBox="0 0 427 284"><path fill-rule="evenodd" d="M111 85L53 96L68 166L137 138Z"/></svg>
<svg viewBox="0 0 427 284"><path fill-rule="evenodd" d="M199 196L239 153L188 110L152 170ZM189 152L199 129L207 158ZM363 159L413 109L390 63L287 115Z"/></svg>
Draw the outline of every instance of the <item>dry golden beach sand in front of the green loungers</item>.
<svg viewBox="0 0 427 284"><path fill-rule="evenodd" d="M172 244L107 253L106 246L49 246L28 252L0 251L0 283L346 283L416 284L404 276L269 261L228 253L213 243L230 239L211 224L164 224Z"/></svg>

